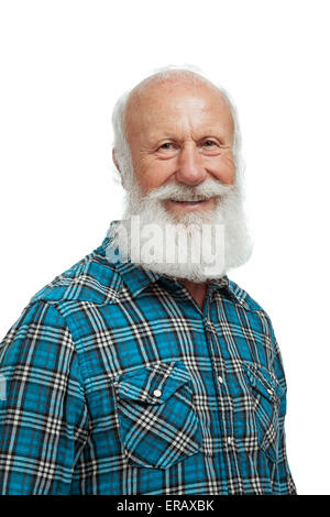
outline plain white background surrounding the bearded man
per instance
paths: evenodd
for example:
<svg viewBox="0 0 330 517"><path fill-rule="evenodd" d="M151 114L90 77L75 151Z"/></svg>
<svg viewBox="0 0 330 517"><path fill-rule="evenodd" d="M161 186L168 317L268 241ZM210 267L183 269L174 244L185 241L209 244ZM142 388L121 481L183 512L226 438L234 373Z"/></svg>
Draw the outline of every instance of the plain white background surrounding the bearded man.
<svg viewBox="0 0 330 517"><path fill-rule="evenodd" d="M243 132L255 248L231 273L270 314L299 494L330 494L329 2L0 3L0 334L122 210L111 109L154 68L224 86Z"/></svg>

